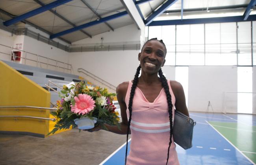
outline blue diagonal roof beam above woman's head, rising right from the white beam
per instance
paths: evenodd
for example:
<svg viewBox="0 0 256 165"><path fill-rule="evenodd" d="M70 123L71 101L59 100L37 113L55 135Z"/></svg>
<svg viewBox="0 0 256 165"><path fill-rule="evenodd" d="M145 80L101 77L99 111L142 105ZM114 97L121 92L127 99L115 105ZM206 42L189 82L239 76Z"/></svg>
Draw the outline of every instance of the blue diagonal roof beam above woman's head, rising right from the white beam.
<svg viewBox="0 0 256 165"><path fill-rule="evenodd" d="M150 24L154 20L154 18L156 18L157 16L162 14L166 9L168 9L170 6L172 6L176 1L178 1L178 0L168 0L167 2L165 2L159 9L154 11L154 13L152 13L145 20L145 25L148 26L148 24Z"/></svg>

